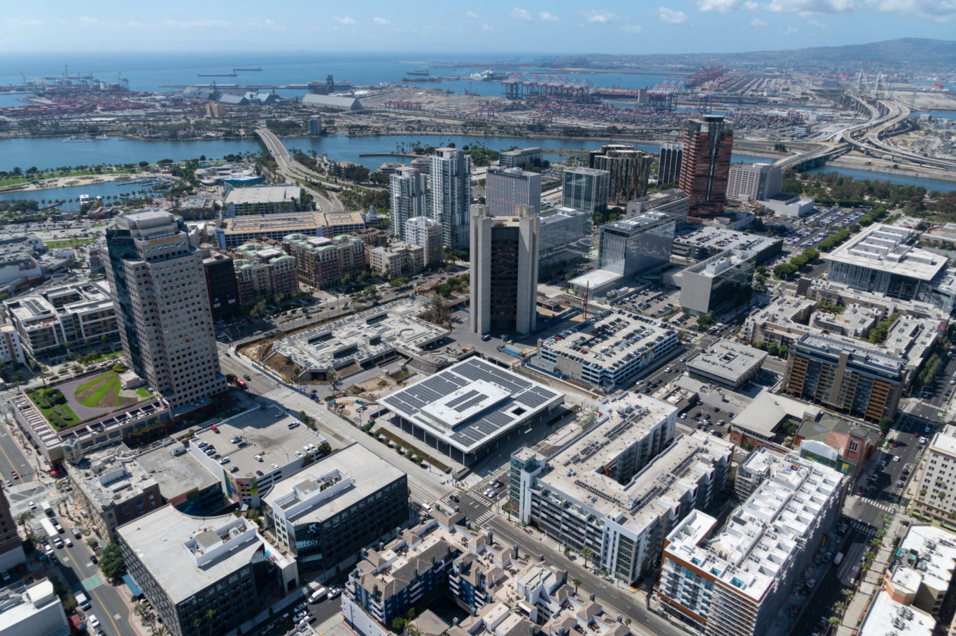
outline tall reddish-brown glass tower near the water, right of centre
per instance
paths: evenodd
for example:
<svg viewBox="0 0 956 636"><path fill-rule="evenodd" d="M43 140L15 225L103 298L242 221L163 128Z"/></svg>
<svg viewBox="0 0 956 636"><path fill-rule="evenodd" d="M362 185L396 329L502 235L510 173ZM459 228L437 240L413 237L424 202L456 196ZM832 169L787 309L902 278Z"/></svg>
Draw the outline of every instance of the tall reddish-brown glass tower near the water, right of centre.
<svg viewBox="0 0 956 636"><path fill-rule="evenodd" d="M690 218L716 217L724 212L733 124L719 115L684 123L681 189L690 197Z"/></svg>

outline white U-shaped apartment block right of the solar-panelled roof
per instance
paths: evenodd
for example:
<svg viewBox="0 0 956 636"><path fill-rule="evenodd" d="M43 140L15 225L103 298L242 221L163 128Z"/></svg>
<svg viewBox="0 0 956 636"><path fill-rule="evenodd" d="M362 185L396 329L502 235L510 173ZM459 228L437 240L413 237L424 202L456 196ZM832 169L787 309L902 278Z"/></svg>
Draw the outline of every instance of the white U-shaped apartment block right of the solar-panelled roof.
<svg viewBox="0 0 956 636"><path fill-rule="evenodd" d="M552 459L511 456L509 498L522 522L633 583L660 565L667 533L724 489L733 447L700 431L675 439L677 409L631 392L588 416L597 428Z"/></svg>

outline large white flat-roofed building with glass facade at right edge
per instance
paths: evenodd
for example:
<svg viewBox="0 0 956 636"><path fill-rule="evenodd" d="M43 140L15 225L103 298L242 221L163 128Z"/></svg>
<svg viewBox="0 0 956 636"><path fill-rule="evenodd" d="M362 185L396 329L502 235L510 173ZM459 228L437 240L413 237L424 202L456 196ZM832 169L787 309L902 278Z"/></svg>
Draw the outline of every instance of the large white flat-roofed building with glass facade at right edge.
<svg viewBox="0 0 956 636"><path fill-rule="evenodd" d="M956 299L956 269L945 256L916 245L917 232L873 223L823 255L827 280L888 298L915 300L946 310Z"/></svg>

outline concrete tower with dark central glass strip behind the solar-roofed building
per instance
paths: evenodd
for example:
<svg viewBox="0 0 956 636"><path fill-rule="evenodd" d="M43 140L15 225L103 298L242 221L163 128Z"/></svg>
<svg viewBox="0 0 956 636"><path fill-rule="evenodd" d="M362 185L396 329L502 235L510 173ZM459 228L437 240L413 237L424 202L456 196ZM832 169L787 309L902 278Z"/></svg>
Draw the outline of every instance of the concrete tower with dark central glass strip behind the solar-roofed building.
<svg viewBox="0 0 956 636"><path fill-rule="evenodd" d="M471 206L471 330L531 333L535 327L538 217L527 205L517 219L492 217Z"/></svg>

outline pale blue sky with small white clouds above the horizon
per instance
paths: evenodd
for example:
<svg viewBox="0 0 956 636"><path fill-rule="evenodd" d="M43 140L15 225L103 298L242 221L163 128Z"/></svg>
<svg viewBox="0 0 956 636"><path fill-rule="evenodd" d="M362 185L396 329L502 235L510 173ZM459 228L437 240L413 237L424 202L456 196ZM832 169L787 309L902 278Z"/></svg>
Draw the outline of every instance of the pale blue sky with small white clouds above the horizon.
<svg viewBox="0 0 956 636"><path fill-rule="evenodd" d="M956 0L41 0L0 51L726 53L954 39Z"/></svg>

